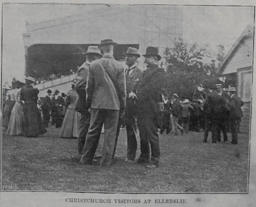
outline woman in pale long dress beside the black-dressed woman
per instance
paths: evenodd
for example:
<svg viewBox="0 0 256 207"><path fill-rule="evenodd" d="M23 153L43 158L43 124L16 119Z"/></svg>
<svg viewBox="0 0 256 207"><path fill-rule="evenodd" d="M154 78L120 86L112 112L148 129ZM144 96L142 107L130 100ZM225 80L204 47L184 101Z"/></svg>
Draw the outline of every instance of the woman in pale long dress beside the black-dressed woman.
<svg viewBox="0 0 256 207"><path fill-rule="evenodd" d="M10 122L7 129L8 135L21 135L24 133L23 106L20 100L20 91L24 85L25 80L17 80L17 89L14 92L15 104L12 108Z"/></svg>

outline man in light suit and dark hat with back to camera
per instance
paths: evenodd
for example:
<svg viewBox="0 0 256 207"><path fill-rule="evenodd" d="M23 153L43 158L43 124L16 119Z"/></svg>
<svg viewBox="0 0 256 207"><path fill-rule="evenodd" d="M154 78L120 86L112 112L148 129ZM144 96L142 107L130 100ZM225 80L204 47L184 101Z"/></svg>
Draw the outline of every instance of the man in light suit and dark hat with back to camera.
<svg viewBox="0 0 256 207"><path fill-rule="evenodd" d="M104 144L100 166L109 167L116 140L119 112L126 105L125 71L113 57L112 39L102 40L99 47L104 56L91 63L86 84L86 108L91 113L90 127L80 162L92 164L104 124Z"/></svg>

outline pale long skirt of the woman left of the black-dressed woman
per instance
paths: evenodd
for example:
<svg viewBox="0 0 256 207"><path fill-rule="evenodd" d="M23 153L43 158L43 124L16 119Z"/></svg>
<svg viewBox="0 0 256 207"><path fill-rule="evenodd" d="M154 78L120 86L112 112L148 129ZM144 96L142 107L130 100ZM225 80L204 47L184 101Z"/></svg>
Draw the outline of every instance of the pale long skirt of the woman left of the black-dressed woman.
<svg viewBox="0 0 256 207"><path fill-rule="evenodd" d="M7 129L8 135L20 135L24 133L24 115L23 106L16 102L12 108L9 126Z"/></svg>

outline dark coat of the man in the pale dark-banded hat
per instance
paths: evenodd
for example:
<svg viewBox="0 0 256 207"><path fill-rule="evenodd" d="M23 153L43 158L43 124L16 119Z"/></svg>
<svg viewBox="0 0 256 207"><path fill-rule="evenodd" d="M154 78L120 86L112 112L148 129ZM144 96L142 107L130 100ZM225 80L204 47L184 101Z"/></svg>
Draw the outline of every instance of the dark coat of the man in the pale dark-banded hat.
<svg viewBox="0 0 256 207"><path fill-rule="evenodd" d="M90 65L86 62L83 63L77 71L77 82L75 85L75 91L78 94L78 99L75 105L75 111L85 114L86 113L86 82L88 77Z"/></svg>

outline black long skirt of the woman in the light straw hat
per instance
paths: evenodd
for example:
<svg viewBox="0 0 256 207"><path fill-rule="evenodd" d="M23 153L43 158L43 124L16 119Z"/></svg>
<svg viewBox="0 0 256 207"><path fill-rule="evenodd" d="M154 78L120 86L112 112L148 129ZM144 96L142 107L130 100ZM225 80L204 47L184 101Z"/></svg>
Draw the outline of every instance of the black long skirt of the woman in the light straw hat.
<svg viewBox="0 0 256 207"><path fill-rule="evenodd" d="M36 137L39 134L44 134L47 132L36 103L25 103L23 106L23 112L25 136Z"/></svg>

